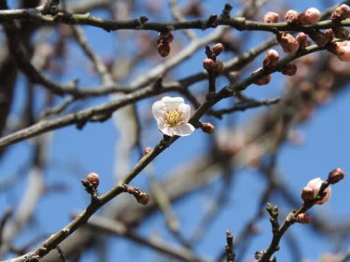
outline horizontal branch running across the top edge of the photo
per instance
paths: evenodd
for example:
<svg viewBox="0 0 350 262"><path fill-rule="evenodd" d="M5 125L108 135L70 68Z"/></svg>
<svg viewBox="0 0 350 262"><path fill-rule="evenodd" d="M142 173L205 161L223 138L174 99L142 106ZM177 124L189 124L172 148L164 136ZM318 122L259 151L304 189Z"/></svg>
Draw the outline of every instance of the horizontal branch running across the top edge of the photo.
<svg viewBox="0 0 350 262"><path fill-rule="evenodd" d="M299 26L288 24L287 22L279 23L267 23L267 22L255 22L246 20L244 17L230 17L222 18L216 17L214 22L213 18L209 17L207 20L188 20L181 22L147 22L147 17L140 17L134 20L116 21L116 20L104 20L100 17L94 17L90 13L76 14L67 12L58 12L55 15L43 15L43 6L37 8L27 9L13 9L13 10L0 10L0 22L10 22L13 20L35 20L44 24L57 24L57 22L64 22L66 24L84 24L93 27L99 27L106 31L115 31L121 29L131 30L151 30L151 31L168 31L181 30L181 29L208 29L217 27L218 25L225 25L235 28L239 31L269 31L273 34L277 34L278 31L295 31L304 32L305 34L314 31L315 29L329 29L334 26L331 20L323 20L316 24ZM350 19L339 22L342 27L350 26Z"/></svg>

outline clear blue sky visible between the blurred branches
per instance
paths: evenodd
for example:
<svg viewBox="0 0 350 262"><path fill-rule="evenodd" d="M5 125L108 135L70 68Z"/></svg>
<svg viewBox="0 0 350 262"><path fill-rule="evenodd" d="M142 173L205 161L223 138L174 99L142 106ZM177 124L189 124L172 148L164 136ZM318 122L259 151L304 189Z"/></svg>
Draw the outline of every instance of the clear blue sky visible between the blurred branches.
<svg viewBox="0 0 350 262"><path fill-rule="evenodd" d="M163 1L165 6L167 1ZM179 1L183 3L183 1ZM226 1L204 1L207 13L221 13L223 5ZM267 4L265 10L278 11L279 1L271 1ZM13 1L12 1L13 3ZM141 3L143 1L137 1ZM336 1L290 1L288 7L295 8L295 10L302 11L306 8L314 6L320 10L325 7L332 6ZM234 10L237 10L237 4L233 3ZM104 16L104 12L94 12L93 15ZM139 8L133 17L143 15L142 8ZM159 20L172 19L170 13L162 13ZM116 50L120 50L122 43L116 43L116 38L113 33L108 34L101 29L94 29L92 27L84 27L87 38L90 41L94 50L102 57L109 57L115 54ZM210 30L200 32L198 34L207 34ZM132 32L138 34L138 32ZM177 32L176 34L181 34ZM237 36L239 36L238 33ZM244 33L243 33L244 34ZM268 38L268 33L255 33L251 41L246 43L246 48L250 48L262 39ZM175 38L176 39L176 38ZM123 48L123 46L122 46ZM131 50L132 51L132 50ZM61 79L63 82L71 80L72 78L80 78L82 86L93 86L99 83L98 78L83 73L82 69L86 68L88 63L83 53L76 45L69 48L69 63L67 64L66 78ZM193 58L188 60L183 67L176 68L174 75L176 78L188 75L188 72L197 72L201 68L202 58L204 57L202 51L197 52ZM227 59L230 57L227 57ZM261 63L262 58L258 59L258 64ZM193 70L195 68L195 70ZM140 71L147 70L147 68L140 68ZM190 70L190 71L189 71ZM281 82L286 81L286 78L281 78L274 75L274 80L266 87L257 88L250 87L245 94L255 97L257 99L273 97L281 92ZM224 81L219 81L219 85L225 85ZM40 95L41 89L37 88L37 93ZM13 108L13 114L19 112L22 108L20 101L23 100L25 94L25 80L21 78L16 88L17 105ZM38 99L39 101L39 99ZM85 106L102 103L106 99L95 99L91 102L86 102ZM151 110L152 100L147 100L140 103L139 109ZM148 106L149 105L149 106ZM303 133L305 140L304 145L295 147L293 145L283 145L281 153L278 157L278 167L283 173L283 180L288 181L290 191L293 191L295 196L300 195L302 187L312 178L321 176L326 177L328 172L333 168L343 168L345 172L350 170L350 145L349 145L349 113L350 110L350 90L346 89L340 92L332 100L332 103L324 105L318 110L314 117L299 126L299 130ZM248 112L238 112L235 117L239 122L246 122L250 117L255 115L258 110L250 110ZM142 115L142 114L141 114ZM154 123L155 126L155 123ZM154 132L150 136L143 138L144 146L154 146L161 138L160 133L154 127ZM34 226L26 230L15 242L20 245L29 241L33 233L54 233L70 221L69 214L72 211L82 210L88 203L89 197L85 194L80 186L79 179L85 177L86 173L94 171L100 174L101 184L100 191L105 192L110 189L113 183L113 154L114 141L117 138L115 129L113 128L111 120L102 124L93 123L87 124L83 131L78 131L71 126L64 129L59 129L55 132L54 140L50 145L50 163L45 169L45 180L48 184L60 182L64 180L69 184L69 190L64 194L50 194L41 199L38 204L37 211L34 217ZM175 166L187 162L197 152L205 150L206 143L203 141L206 135L200 131L196 131L188 138L181 138L176 141L164 154L160 155L154 162L155 175L164 177L167 171L172 170ZM235 139L235 138L232 138ZM22 142L11 147L0 162L1 178L8 177L11 173L17 170L30 157L29 143ZM134 154L135 161L137 159L137 152ZM169 161L171 159L171 161ZM76 168L72 168L76 167ZM74 170L74 171L72 171ZM145 174L141 173L133 184L135 186L144 187ZM208 228L206 238L200 242L200 245L195 247L197 254L201 256L216 257L225 245L225 230L230 228L233 235L239 233L241 226L251 218L255 212L257 200L262 193L265 186L265 181L259 173L252 170L238 170L235 177L235 190L230 192L230 202L214 224ZM0 211L5 210L7 206L15 207L22 196L25 188L26 180L19 181L18 184L11 191L0 192ZM348 180L339 183L333 187L333 195L330 201L322 206L316 206L313 209L315 213L322 213L325 217L332 217L335 223L344 221L350 218L350 208L347 202L348 196ZM217 184L216 189L220 185ZM190 235L193 228L200 219L201 212L205 208L205 203L211 199L213 194L210 190L204 190L195 197L186 198L185 201L174 205L176 215L181 222L182 232L184 235ZM300 201L301 203L301 201ZM283 208L283 200L281 198L274 198L274 204L281 207L282 212L290 211L290 208ZM297 207L295 207L297 208ZM267 215L260 219L260 234L254 238L249 246L248 252L244 261L253 258L255 251L265 249L271 240L270 224ZM169 233L164 229L165 222L162 215L157 214L151 219L148 219L146 224L140 228L140 233L147 236L158 232L167 241L174 242ZM302 255L304 258L316 261L318 256L323 252L331 252L332 245L329 239L323 238L321 235L314 235L311 231L311 226L297 224L292 227L291 232L300 244ZM344 247L349 245L349 240L344 242ZM137 250L137 252L134 252ZM237 254L239 255L239 254ZM133 243L121 238L111 238L111 248L109 249L110 261L154 261L155 255L152 250L144 247L135 247ZM276 253L279 261L291 261L290 251L283 241L281 243L281 251ZM93 253L85 255L82 261L96 261L96 256Z"/></svg>

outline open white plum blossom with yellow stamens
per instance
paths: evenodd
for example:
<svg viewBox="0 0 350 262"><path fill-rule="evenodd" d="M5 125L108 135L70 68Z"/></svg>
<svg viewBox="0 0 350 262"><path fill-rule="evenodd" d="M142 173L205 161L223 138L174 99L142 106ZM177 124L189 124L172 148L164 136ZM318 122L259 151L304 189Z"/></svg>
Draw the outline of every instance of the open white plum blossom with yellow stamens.
<svg viewBox="0 0 350 262"><path fill-rule="evenodd" d="M165 96L152 105L160 131L167 136L189 136L195 127L188 123L191 108L182 97Z"/></svg>

